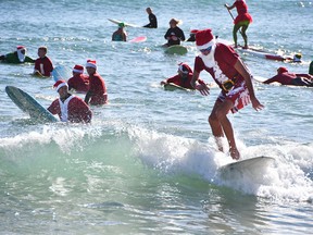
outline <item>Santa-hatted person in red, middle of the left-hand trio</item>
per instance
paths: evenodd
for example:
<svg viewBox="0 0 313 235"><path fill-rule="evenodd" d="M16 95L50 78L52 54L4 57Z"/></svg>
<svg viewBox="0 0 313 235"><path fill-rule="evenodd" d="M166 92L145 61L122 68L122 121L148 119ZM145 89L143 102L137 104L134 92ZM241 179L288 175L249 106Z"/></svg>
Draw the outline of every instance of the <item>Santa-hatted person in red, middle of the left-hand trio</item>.
<svg viewBox="0 0 313 235"><path fill-rule="evenodd" d="M89 78L84 74L84 66L76 64L73 67L73 77L67 81L68 90L76 90L77 92L87 92L89 90Z"/></svg>

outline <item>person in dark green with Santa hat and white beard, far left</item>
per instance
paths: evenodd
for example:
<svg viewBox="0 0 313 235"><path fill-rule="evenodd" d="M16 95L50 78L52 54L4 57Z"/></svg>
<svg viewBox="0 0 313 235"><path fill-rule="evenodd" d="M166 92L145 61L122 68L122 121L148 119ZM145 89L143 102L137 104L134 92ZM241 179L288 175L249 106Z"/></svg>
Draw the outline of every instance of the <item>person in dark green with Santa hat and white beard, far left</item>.
<svg viewBox="0 0 313 235"><path fill-rule="evenodd" d="M0 61L4 63L34 63L35 60L27 57L27 49L24 46L17 46L16 51L0 55Z"/></svg>

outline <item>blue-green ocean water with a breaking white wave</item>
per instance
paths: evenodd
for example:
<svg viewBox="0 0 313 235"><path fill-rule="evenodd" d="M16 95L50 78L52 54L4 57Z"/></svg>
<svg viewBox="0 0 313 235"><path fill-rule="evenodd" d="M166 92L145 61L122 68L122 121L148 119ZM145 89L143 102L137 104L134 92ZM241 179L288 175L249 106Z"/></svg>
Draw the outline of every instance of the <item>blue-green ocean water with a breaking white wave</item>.
<svg viewBox="0 0 313 235"><path fill-rule="evenodd" d="M186 36L210 27L231 41L224 3L0 1L0 54L24 45L37 58L45 45L54 65L95 59L110 99L92 108L91 125L34 123L4 88L23 88L48 107L58 95L53 79L33 77L29 64L0 63L0 234L313 234L312 88L254 83L265 109L250 106L229 119L242 159L275 162L225 177L218 168L233 160L217 151L208 125L220 90L202 97L159 85L178 62L193 66L197 54L188 42L186 55L164 53L168 21L181 20ZM303 58L295 64L240 53L253 75L271 77L279 66L308 73L313 2L247 3L250 45ZM143 25L147 7L159 28L126 29L129 39L147 41L112 42L116 25L108 18ZM201 78L212 83L205 72Z"/></svg>

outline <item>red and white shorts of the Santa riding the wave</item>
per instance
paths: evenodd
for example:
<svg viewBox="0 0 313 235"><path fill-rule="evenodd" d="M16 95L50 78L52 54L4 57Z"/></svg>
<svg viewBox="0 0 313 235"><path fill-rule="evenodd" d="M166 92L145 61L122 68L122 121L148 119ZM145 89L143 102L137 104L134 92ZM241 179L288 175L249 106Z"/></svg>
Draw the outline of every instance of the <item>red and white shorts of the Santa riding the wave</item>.
<svg viewBox="0 0 313 235"><path fill-rule="evenodd" d="M222 102L225 100L230 100L234 103L234 107L230 109L231 113L238 112L238 110L251 102L249 90L245 82L236 84L228 92L222 90L217 97L217 100Z"/></svg>

